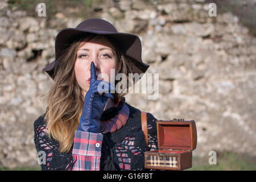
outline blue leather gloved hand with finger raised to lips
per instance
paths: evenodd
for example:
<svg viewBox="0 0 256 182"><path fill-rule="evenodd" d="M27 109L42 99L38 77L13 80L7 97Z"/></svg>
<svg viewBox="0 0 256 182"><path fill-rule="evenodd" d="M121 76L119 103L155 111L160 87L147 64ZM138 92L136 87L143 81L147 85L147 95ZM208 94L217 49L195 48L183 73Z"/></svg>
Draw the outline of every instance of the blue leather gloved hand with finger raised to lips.
<svg viewBox="0 0 256 182"><path fill-rule="evenodd" d="M96 68L92 62L90 64L90 87L85 94L84 107L77 131L100 133L100 118L108 98L114 98L110 93L113 89L115 90L113 84L97 80Z"/></svg>

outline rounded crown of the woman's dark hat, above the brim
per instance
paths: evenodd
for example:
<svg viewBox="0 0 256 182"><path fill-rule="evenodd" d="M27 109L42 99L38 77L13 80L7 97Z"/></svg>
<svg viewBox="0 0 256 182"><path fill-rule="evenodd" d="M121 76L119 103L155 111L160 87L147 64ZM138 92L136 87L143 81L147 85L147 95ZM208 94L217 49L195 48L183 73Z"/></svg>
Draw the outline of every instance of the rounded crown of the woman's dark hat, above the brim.
<svg viewBox="0 0 256 182"><path fill-rule="evenodd" d="M117 32L113 24L100 18L90 18L79 23L76 28L82 30L96 30L96 31L107 31Z"/></svg>

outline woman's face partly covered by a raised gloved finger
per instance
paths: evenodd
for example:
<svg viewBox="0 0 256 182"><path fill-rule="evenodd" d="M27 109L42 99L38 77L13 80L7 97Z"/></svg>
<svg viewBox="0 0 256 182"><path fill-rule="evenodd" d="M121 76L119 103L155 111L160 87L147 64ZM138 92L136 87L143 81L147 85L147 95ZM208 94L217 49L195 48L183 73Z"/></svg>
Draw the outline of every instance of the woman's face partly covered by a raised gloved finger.
<svg viewBox="0 0 256 182"><path fill-rule="evenodd" d="M90 63L93 61L96 67L98 80L110 82L110 70L116 69L117 56L114 52L114 47L106 38L94 37L89 42L82 42L80 45L82 46L76 52L75 75L85 95L90 86L88 81L90 78ZM115 75L117 75L118 71L115 70ZM98 77L100 73L102 75Z"/></svg>

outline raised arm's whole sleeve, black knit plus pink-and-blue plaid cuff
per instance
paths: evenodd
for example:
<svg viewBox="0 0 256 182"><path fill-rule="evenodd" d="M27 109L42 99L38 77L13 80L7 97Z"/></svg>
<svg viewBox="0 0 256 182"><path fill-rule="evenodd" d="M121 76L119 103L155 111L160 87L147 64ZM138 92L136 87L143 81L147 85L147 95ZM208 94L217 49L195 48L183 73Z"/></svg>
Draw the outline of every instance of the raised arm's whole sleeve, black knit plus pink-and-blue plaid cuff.
<svg viewBox="0 0 256 182"><path fill-rule="evenodd" d="M59 143L46 135L43 115L34 122L34 142L38 151L38 162L42 171L99 171L101 133L75 131L72 152L59 152Z"/></svg>

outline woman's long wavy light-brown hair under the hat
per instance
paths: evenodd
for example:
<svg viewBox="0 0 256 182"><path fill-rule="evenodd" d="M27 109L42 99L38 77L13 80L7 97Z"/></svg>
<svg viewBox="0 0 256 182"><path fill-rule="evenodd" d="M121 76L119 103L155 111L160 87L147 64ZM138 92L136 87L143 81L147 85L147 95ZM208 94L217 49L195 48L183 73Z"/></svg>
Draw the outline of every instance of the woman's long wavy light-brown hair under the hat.
<svg viewBox="0 0 256 182"><path fill-rule="evenodd" d="M40 96L47 102L45 121L46 134L50 139L55 139L59 142L60 152L69 152L72 149L75 131L79 125L79 119L82 114L84 105L84 96L82 89L76 81L75 77L75 61L77 58L77 50L81 44L93 39L95 36L104 36L114 47L117 55L117 66L121 68L119 73L124 73L126 76L131 71L130 57L124 55L115 41L106 35L97 34L82 34L73 38L71 43L67 44L67 49L63 51L61 56L56 60L56 68L54 71L54 84L49 92ZM115 80L115 85L119 81ZM127 76L127 84L130 82ZM134 81L132 81L134 84ZM125 96L129 91L127 86L126 92L113 93L113 102L117 103L119 98ZM45 107L45 105L44 105Z"/></svg>

